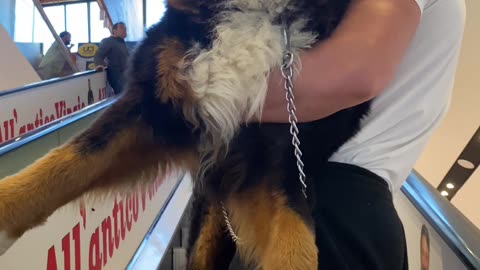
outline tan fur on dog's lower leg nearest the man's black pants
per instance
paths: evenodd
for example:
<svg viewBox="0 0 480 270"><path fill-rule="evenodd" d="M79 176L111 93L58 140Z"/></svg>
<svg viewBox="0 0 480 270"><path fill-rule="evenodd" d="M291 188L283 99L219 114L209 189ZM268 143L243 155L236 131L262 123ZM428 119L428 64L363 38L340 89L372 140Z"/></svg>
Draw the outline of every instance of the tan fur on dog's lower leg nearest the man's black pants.
<svg viewBox="0 0 480 270"><path fill-rule="evenodd" d="M263 270L317 270L315 235L284 195L260 186L230 198L227 209L246 263Z"/></svg>

